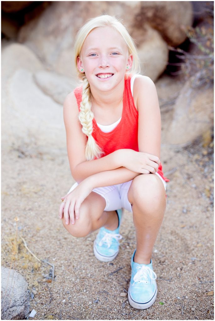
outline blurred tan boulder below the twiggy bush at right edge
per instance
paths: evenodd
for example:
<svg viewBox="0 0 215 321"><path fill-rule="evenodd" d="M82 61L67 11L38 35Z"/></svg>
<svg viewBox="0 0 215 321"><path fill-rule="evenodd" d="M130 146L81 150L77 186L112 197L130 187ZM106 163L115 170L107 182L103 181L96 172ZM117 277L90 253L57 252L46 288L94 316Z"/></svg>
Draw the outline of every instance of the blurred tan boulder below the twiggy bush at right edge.
<svg viewBox="0 0 215 321"><path fill-rule="evenodd" d="M165 144L188 145L213 125L213 86L195 87L200 73L184 84L175 101L173 119L163 132Z"/></svg>

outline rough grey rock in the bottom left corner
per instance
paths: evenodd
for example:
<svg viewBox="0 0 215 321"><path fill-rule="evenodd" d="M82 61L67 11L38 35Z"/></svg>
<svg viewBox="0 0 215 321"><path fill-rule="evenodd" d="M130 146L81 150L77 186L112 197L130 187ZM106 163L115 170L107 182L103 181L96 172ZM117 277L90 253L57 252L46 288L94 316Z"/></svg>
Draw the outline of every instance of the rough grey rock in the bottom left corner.
<svg viewBox="0 0 215 321"><path fill-rule="evenodd" d="M1 309L3 320L24 320L30 311L28 283L23 276L1 267Z"/></svg>

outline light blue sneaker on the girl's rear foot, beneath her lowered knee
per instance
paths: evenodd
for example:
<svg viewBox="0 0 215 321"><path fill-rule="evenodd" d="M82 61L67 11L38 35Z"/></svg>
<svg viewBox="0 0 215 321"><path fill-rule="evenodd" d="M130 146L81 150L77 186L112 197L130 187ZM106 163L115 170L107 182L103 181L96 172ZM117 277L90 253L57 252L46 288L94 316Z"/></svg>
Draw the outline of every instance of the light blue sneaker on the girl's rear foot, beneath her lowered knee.
<svg viewBox="0 0 215 321"><path fill-rule="evenodd" d="M97 234L96 239L94 241L94 255L98 260L103 262L112 261L119 253L119 240L121 240L122 238L122 236L119 234L120 223L122 219L122 209L117 210L116 212L119 219L117 229L111 231L102 227L99 230L99 233Z"/></svg>

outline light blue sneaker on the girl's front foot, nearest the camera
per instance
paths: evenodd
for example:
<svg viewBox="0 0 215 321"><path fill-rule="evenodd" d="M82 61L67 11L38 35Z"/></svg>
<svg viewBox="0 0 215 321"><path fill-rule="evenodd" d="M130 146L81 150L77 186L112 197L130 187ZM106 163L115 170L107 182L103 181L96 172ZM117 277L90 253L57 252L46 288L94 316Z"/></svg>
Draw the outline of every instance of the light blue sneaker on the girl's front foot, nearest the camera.
<svg viewBox="0 0 215 321"><path fill-rule="evenodd" d="M157 297L157 275L153 271L152 260L150 264L134 262L134 251L131 257L131 279L128 290L130 305L135 309L147 309Z"/></svg>

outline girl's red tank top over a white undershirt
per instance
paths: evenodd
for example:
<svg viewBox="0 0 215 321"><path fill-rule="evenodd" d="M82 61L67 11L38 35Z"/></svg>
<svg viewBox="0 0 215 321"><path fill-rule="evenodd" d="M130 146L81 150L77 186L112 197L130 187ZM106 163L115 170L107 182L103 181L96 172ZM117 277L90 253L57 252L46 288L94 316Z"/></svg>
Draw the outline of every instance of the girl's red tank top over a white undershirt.
<svg viewBox="0 0 215 321"><path fill-rule="evenodd" d="M133 96L130 89L130 75L125 78L124 93L123 93L123 109L120 123L110 132L104 133L93 119L93 137L99 146L104 151L103 156L106 156L118 149L138 149L138 110L134 105ZM74 90L78 109L82 101L82 86ZM162 165L159 165L158 173L168 182L169 179L164 177Z"/></svg>

